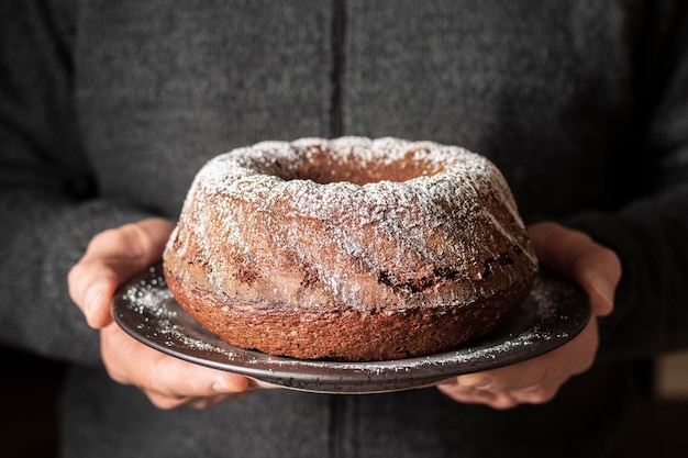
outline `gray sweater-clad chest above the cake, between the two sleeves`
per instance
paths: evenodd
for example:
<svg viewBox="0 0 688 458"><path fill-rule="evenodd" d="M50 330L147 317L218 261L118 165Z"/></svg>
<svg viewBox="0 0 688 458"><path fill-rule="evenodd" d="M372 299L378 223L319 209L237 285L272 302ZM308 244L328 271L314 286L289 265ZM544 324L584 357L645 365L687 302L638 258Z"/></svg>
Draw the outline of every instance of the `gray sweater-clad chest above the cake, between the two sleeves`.
<svg viewBox="0 0 688 458"><path fill-rule="evenodd" d="M106 196L174 217L214 155L346 134L484 154L526 220L607 203L632 102L615 2L203 7L81 4L78 112Z"/></svg>

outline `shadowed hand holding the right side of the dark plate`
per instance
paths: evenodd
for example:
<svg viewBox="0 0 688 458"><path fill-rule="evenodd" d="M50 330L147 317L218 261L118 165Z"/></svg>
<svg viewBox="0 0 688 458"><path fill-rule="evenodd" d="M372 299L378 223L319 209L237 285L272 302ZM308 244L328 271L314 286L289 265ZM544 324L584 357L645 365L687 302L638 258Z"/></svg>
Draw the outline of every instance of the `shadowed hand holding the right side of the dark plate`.
<svg viewBox="0 0 688 458"><path fill-rule="evenodd" d="M540 261L576 281L590 300L590 322L574 339L533 359L499 369L458 376L437 388L450 398L511 409L552 400L572 377L587 371L599 345L597 317L613 310L621 262L610 249L588 235L552 222L529 227Z"/></svg>

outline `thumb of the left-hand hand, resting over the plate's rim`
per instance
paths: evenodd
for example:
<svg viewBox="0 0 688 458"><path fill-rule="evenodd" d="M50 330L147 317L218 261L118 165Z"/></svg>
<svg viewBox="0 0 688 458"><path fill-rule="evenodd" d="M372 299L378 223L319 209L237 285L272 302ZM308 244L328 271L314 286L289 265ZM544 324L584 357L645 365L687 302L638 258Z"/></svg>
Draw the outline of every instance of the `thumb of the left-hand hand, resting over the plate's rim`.
<svg viewBox="0 0 688 458"><path fill-rule="evenodd" d="M159 260L173 228L167 220L149 219L93 237L68 275L69 294L91 327L112 321L110 300L118 286Z"/></svg>

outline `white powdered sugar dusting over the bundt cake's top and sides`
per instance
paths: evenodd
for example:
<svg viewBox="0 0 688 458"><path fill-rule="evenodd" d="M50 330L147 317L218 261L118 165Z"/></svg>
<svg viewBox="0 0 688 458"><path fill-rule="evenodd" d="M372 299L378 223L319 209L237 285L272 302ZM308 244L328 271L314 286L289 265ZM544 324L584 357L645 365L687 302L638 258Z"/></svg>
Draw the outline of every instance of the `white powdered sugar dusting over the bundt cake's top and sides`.
<svg viewBox="0 0 688 458"><path fill-rule="evenodd" d="M363 185L303 176L323 154L323 167L333 169L337 164L354 164L360 174L418 167L419 175L402 182L382 178ZM404 283L409 272L432 277L439 271L454 271L468 292L439 297L435 305L470 302L493 292L485 289L480 266L485 257L499 258L503 246L518 248L524 262L536 266L499 170L480 155L434 142L349 136L238 148L199 171L180 223L185 228L174 232L165 256L174 246L184 257L193 246L209 265L209 288L236 294L226 290L226 278L241 259L247 268L257 266L257 278L271 282L263 295L303 306L344 302L367 308L371 300L382 300L362 292L366 281L389 276ZM429 244L429 238L446 242ZM313 272L319 295L308 295L298 281L279 280L291 275L295 264ZM464 269L460 277L457 266ZM184 279L184 271L176 273ZM411 304L413 298L403 301Z"/></svg>

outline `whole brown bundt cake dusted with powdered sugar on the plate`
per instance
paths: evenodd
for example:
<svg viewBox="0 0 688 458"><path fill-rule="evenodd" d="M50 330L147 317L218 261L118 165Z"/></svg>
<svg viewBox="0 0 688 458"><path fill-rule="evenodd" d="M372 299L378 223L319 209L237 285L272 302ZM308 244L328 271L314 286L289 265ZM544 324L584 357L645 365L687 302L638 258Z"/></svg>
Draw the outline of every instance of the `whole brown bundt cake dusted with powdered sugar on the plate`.
<svg viewBox="0 0 688 458"><path fill-rule="evenodd" d="M264 142L197 175L164 255L175 299L230 344L309 359L457 347L537 269L486 158L399 138Z"/></svg>

